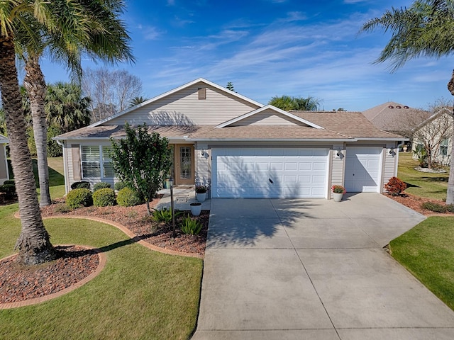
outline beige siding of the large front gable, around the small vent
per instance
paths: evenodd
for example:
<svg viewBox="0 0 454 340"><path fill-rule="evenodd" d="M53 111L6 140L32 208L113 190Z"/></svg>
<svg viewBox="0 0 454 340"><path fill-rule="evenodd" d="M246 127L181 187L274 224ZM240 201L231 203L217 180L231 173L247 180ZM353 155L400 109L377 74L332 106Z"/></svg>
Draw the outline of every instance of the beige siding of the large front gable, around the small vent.
<svg viewBox="0 0 454 340"><path fill-rule="evenodd" d="M206 99L199 99L198 89L206 87ZM118 118L109 125L218 125L258 106L206 84L195 84Z"/></svg>

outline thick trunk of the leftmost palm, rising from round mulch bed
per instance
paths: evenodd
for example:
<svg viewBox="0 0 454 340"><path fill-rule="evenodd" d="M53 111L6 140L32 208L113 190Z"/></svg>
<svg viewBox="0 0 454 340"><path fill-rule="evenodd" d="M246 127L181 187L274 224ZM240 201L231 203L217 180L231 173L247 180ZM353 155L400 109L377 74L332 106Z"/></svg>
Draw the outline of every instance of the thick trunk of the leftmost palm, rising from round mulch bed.
<svg viewBox="0 0 454 340"><path fill-rule="evenodd" d="M16 242L19 251L17 259L24 264L51 261L56 258L56 252L45 230L38 205L11 36L0 37L0 91L21 214L21 235Z"/></svg>

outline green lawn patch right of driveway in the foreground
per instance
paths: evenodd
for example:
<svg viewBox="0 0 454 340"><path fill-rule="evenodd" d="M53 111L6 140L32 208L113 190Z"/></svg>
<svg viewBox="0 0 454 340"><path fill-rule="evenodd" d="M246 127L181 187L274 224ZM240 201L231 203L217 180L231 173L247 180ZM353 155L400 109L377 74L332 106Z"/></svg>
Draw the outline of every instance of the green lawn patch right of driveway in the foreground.
<svg viewBox="0 0 454 340"><path fill-rule="evenodd" d="M394 259L454 310L454 217L428 217L390 246Z"/></svg>

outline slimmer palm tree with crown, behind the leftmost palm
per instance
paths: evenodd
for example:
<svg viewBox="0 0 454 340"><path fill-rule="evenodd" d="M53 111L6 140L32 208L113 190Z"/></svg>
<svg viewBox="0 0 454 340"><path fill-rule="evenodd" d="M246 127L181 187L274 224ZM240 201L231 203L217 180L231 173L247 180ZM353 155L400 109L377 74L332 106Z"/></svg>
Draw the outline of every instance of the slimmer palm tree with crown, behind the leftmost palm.
<svg viewBox="0 0 454 340"><path fill-rule="evenodd" d="M58 1L55 1L57 4ZM28 32L18 35L16 51L26 64L24 86L28 91L33 118L33 135L38 156L38 177L40 183L40 205L51 203L47 161L47 125L45 116L46 85L39 60L50 49L50 57L57 62L65 62L77 79L82 76L80 53L86 52L91 57L100 57L108 62L131 60L130 38L118 16L123 11L123 1L61 1L57 4L61 18L79 18L91 21L87 34L79 26L71 26L60 20L62 30L46 33L30 44ZM85 18L84 18L85 17ZM73 22L74 23L74 22ZM82 26L83 27L83 26ZM45 33L45 30L41 30Z"/></svg>

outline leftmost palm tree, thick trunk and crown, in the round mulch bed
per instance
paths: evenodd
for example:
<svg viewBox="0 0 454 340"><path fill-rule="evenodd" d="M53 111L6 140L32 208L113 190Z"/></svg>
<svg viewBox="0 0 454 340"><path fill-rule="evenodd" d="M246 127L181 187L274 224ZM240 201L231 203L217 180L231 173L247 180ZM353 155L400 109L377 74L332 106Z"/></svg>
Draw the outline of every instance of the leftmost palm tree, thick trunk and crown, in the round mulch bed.
<svg viewBox="0 0 454 340"><path fill-rule="evenodd" d="M20 42L22 47L26 46L30 47L31 51L39 51L43 42L60 39L69 44L67 50L71 50L74 55L77 55L81 42L85 42L85 46L93 46L90 50L93 54L99 53L99 55L109 57L111 54L107 53L104 47L110 38L105 36L109 33L107 27L111 27L113 24L106 18L112 18L114 13L96 21L94 13L99 12L94 11L95 4L92 3L95 2L104 4L104 1L72 0L0 2L0 91L6 112L11 164L16 179L21 215L22 229L16 242L16 249L19 251L18 261L24 264L43 263L55 259L57 255L43 225L38 204L31 154L27 146L26 122L18 86L15 45ZM116 2L121 1L105 1L106 4ZM87 11L87 8L91 8L92 11ZM106 8L110 7L106 5ZM106 26L102 26L104 21ZM117 33L112 33L112 36L118 38ZM74 40L71 44L72 39ZM52 45L46 46L53 52ZM23 51L30 50L23 49ZM34 53L30 55L34 60L38 60ZM31 73L36 71L35 67L30 68Z"/></svg>

